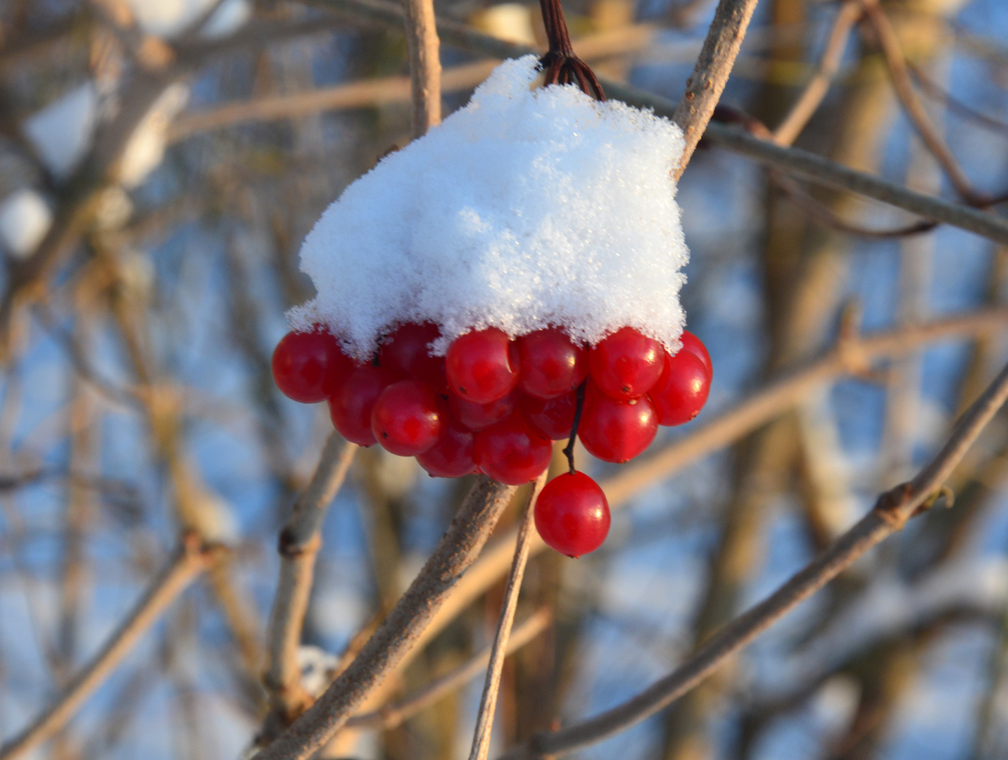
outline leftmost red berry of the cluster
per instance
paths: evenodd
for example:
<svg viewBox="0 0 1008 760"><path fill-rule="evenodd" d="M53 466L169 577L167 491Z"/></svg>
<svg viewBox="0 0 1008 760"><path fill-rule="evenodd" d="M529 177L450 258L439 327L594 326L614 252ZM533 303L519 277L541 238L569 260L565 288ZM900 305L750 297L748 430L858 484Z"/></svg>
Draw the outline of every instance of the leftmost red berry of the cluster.
<svg viewBox="0 0 1008 760"><path fill-rule="evenodd" d="M329 333L287 333L273 350L273 381L287 398L304 404L325 401L354 368Z"/></svg>

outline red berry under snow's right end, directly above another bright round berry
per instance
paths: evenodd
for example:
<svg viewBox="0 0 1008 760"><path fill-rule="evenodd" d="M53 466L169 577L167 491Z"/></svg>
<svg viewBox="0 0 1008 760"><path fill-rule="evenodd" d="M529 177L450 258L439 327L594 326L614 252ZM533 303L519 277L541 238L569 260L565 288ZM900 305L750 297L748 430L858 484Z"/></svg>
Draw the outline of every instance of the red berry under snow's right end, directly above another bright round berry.
<svg viewBox="0 0 1008 760"><path fill-rule="evenodd" d="M627 401L640 398L658 381L664 358L660 343L621 328L589 352L589 368L603 393Z"/></svg>

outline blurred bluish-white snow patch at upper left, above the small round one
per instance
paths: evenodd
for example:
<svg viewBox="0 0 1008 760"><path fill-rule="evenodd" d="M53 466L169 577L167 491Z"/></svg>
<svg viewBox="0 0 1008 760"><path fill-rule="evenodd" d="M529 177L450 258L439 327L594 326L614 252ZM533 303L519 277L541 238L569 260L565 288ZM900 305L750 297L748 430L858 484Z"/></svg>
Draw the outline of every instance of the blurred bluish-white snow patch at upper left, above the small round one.
<svg viewBox="0 0 1008 760"><path fill-rule="evenodd" d="M98 90L86 82L29 116L22 129L57 179L65 179L84 158L95 133Z"/></svg>

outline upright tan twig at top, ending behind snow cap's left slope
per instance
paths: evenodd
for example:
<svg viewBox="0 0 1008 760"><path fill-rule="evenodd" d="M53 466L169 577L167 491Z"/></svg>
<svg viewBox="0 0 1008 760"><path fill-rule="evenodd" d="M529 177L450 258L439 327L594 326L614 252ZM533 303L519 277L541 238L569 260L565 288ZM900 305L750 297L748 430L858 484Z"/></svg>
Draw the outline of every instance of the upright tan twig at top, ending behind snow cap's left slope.
<svg viewBox="0 0 1008 760"><path fill-rule="evenodd" d="M402 0L412 87L413 138L440 124L440 43L433 0Z"/></svg>

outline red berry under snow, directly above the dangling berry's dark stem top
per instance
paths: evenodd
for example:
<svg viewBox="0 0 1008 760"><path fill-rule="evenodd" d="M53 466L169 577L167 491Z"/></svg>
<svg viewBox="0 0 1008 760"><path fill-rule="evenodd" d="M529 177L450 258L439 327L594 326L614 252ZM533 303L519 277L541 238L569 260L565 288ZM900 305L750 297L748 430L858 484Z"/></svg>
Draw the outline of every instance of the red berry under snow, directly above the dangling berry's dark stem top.
<svg viewBox="0 0 1008 760"><path fill-rule="evenodd" d="M556 398L588 376L588 350L555 328L522 336L515 343L521 360L518 387L536 398Z"/></svg>

